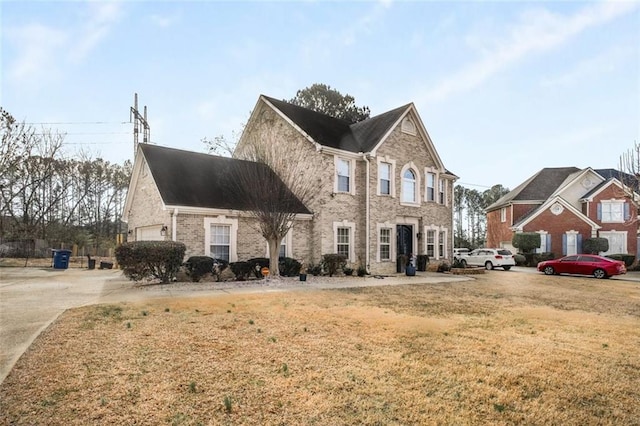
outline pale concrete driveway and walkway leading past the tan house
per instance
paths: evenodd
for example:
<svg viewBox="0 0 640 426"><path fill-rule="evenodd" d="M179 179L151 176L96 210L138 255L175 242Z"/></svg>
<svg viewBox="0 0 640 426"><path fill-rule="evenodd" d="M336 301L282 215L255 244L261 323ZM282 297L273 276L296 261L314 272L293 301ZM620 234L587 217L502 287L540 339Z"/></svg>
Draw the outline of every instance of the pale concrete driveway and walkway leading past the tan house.
<svg viewBox="0 0 640 426"><path fill-rule="evenodd" d="M211 297L233 293L306 291L466 281L466 276L418 272L415 277L297 278L245 283L140 285L119 270L0 268L0 383L38 335L65 310L98 303L139 302L166 297Z"/></svg>

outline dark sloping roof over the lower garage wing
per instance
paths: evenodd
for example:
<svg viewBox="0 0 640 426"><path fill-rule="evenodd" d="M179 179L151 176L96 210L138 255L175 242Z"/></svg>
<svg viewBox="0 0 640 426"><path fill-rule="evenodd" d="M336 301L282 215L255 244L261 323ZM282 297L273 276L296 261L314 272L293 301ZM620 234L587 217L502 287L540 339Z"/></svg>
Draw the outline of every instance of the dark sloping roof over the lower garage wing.
<svg viewBox="0 0 640 426"><path fill-rule="evenodd" d="M273 175L268 167L251 161L158 145L139 146L166 205L250 210L246 199L239 195L239 174L246 168L255 168L253 172ZM284 183L279 179L278 181L282 187L277 192L290 194ZM291 206L291 211L310 213L297 199Z"/></svg>

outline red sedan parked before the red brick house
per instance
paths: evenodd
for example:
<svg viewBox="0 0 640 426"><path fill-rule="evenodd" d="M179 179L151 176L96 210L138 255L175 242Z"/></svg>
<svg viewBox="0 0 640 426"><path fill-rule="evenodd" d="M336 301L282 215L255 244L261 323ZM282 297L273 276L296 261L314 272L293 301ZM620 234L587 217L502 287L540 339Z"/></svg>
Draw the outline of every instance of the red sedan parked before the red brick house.
<svg viewBox="0 0 640 426"><path fill-rule="evenodd" d="M576 274L609 278L612 275L626 274L627 268L621 260L613 260L595 254L574 254L540 262L538 263L538 271L544 272L546 275Z"/></svg>

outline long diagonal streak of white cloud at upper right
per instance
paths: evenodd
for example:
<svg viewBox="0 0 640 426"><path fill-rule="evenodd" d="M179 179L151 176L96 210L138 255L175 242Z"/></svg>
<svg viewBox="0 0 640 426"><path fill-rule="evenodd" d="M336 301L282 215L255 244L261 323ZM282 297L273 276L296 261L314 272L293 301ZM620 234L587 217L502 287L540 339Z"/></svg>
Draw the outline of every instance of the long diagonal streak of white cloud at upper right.
<svg viewBox="0 0 640 426"><path fill-rule="evenodd" d="M441 81L424 94L424 102L471 90L528 55L555 49L588 28L605 24L637 7L634 2L603 2L590 4L571 16L544 9L530 10L507 34L494 38L491 45L482 43L485 37L472 38L473 44L483 52L482 58Z"/></svg>

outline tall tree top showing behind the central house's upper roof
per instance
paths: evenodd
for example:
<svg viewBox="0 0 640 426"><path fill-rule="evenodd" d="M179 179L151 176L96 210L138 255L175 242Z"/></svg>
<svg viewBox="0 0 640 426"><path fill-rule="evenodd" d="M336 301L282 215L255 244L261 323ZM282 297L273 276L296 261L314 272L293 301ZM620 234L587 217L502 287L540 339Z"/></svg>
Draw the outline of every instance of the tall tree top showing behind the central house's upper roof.
<svg viewBox="0 0 640 426"><path fill-rule="evenodd" d="M369 107L356 106L353 96L343 95L326 84L316 83L298 90L294 98L285 102L340 118L349 123L366 120L371 115Z"/></svg>

